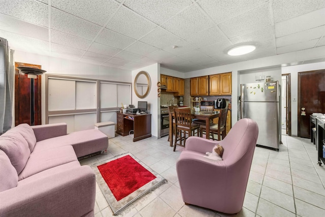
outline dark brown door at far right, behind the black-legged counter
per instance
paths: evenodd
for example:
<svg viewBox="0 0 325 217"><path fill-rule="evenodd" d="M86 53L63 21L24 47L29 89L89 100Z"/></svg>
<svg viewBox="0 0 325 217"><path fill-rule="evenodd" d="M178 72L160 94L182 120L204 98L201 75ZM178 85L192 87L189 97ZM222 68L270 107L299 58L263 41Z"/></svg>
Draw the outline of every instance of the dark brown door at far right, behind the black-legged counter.
<svg viewBox="0 0 325 217"><path fill-rule="evenodd" d="M298 73L298 136L310 138L309 115L325 113L325 69Z"/></svg>

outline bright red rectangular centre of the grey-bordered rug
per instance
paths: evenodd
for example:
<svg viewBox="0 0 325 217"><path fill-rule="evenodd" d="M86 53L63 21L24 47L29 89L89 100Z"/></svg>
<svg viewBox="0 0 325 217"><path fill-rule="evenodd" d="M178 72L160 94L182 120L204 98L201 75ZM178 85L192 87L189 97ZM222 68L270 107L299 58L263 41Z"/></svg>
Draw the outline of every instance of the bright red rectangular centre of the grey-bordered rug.
<svg viewBox="0 0 325 217"><path fill-rule="evenodd" d="M117 201L156 178L129 155L102 164L98 169Z"/></svg>

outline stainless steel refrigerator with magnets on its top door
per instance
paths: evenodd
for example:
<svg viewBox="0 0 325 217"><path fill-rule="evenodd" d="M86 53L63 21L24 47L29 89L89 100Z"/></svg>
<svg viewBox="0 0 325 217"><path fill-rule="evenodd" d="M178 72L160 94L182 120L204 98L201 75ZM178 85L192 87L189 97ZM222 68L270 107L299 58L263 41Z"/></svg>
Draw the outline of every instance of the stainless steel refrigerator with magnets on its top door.
<svg viewBox="0 0 325 217"><path fill-rule="evenodd" d="M257 122L257 145L279 150L281 91L278 81L241 84L241 118Z"/></svg>

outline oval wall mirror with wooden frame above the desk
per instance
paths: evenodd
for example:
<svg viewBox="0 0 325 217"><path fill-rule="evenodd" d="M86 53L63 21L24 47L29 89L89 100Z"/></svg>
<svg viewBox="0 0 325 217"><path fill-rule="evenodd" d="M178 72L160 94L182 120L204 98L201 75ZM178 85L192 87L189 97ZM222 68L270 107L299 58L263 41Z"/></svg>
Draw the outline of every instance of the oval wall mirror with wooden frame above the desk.
<svg viewBox="0 0 325 217"><path fill-rule="evenodd" d="M143 99L148 96L150 85L149 74L145 71L140 71L134 79L134 91L136 92L137 97Z"/></svg>

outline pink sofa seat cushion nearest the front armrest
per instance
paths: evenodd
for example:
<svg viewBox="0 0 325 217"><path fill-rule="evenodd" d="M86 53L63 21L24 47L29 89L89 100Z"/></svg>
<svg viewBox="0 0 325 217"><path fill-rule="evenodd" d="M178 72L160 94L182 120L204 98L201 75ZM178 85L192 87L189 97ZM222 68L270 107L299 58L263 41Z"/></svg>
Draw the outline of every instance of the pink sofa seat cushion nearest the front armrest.
<svg viewBox="0 0 325 217"><path fill-rule="evenodd" d="M44 170L73 161L78 161L78 159L71 145L47 149L44 151L33 151L30 154L25 168L18 175L18 181Z"/></svg>

